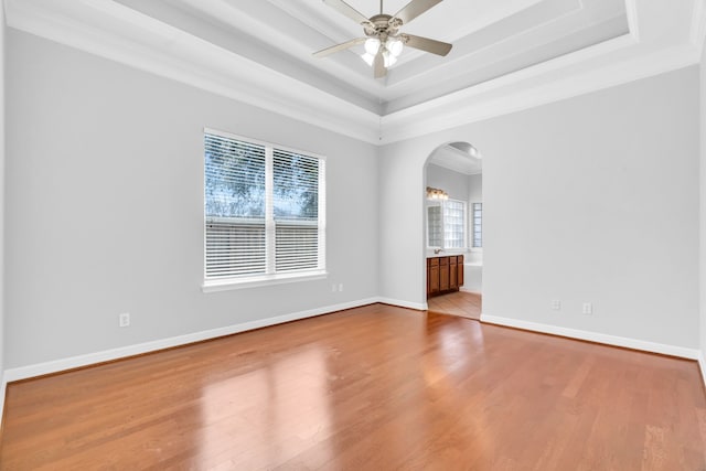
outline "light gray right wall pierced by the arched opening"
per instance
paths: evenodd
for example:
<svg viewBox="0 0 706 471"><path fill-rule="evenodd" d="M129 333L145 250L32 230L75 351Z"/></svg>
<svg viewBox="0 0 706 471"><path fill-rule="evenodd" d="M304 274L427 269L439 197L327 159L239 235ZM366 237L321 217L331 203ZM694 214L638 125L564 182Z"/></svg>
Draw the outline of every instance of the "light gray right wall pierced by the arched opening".
<svg viewBox="0 0 706 471"><path fill-rule="evenodd" d="M483 314L698 347L697 94L692 66L384 147L382 295L424 302L424 163L467 141L483 154Z"/></svg>

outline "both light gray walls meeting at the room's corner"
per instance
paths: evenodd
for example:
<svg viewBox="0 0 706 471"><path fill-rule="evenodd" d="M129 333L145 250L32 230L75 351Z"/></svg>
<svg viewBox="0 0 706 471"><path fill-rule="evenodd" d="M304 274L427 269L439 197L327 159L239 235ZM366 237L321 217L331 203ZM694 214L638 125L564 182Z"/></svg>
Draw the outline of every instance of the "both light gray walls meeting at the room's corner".
<svg viewBox="0 0 706 471"><path fill-rule="evenodd" d="M451 141L484 157L484 313L706 345L698 67L377 150L13 30L7 45L6 368L378 295L424 304L424 165ZM328 280L201 292L204 126L328 156Z"/></svg>

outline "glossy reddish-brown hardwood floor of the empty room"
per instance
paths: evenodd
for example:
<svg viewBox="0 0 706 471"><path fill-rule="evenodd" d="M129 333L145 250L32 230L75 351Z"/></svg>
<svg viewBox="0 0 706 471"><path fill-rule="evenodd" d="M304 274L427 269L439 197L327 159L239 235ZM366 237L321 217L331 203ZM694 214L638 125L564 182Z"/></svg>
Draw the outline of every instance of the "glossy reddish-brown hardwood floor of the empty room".
<svg viewBox="0 0 706 471"><path fill-rule="evenodd" d="M695 362L373 304L11 384L2 470L704 470Z"/></svg>

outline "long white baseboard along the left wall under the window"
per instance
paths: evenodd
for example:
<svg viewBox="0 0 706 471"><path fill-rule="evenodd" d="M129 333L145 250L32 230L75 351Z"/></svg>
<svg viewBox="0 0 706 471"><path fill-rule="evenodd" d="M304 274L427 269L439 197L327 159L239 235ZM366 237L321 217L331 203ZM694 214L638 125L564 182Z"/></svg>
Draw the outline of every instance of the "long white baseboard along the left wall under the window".
<svg viewBox="0 0 706 471"><path fill-rule="evenodd" d="M378 298L361 299L357 301L327 306L323 308L310 309L308 311L300 311L291 314L285 314L285 315L278 315L275 318L245 322L242 324L227 325L224 328L194 332L185 335L178 335L169 339L161 339L161 340L156 340L151 342L139 343L136 345L121 346L118 349L88 353L85 355L71 356L67 358L54 360L51 362L38 363L34 365L9 368L9 370L6 370L2 378L2 386L3 386L2 394L4 395L6 384L11 383L13 381L26 379L35 376L58 373L66 370L78 368L82 366L94 365L97 363L109 362L114 360L125 358L133 355L140 355L143 353L156 352L159 350L170 349L174 346L186 345L189 343L201 342L210 339L216 339L220 336L231 335L238 332L245 332L248 330L260 329L269 325L276 325L284 322L297 321L300 319L327 314L335 311L342 311L344 309L357 308L366 304L373 304L376 302L386 302L386 301L379 301Z"/></svg>

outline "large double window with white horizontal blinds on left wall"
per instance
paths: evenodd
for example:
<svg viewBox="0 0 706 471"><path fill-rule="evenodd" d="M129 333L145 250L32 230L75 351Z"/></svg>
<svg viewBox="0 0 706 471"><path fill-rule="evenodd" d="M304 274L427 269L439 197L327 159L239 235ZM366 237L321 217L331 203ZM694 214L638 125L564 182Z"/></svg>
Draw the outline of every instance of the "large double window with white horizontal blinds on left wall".
<svg viewBox="0 0 706 471"><path fill-rule="evenodd" d="M323 158L206 130L204 173L205 286L323 274Z"/></svg>

